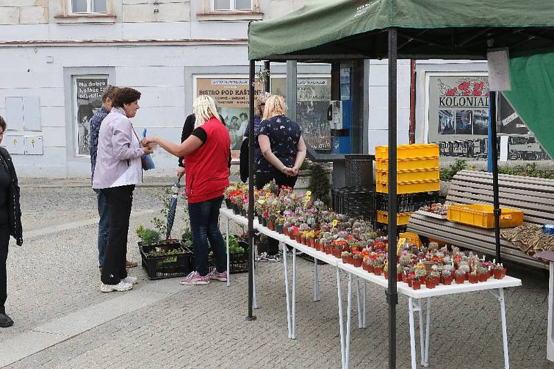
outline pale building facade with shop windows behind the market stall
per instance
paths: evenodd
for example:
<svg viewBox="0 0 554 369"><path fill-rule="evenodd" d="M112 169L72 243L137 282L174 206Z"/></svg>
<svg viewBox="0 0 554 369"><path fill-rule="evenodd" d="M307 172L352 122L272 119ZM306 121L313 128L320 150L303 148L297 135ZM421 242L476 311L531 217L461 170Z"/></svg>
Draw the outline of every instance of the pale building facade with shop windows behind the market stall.
<svg viewBox="0 0 554 369"><path fill-rule="evenodd" d="M103 88L115 84L142 93L133 120L139 135L148 129L174 142L195 97L213 95L238 149L249 118L248 23L294 12L305 2L0 0L0 115L8 122L2 146L22 177L90 176L89 120ZM387 143L387 68L386 61L364 63L369 153ZM256 70L261 69L260 63ZM399 61L398 143L441 142L445 157L483 159L488 100L473 99L480 105L470 107L440 102L453 102L441 100L449 93L483 93L486 73L482 62L418 61L412 68L409 60ZM287 65L271 64L272 93L286 97L286 75ZM298 64L297 82L296 119L307 142L329 149L331 66ZM258 82L256 91L261 90ZM506 110L503 122L501 158L543 158L513 111ZM514 134L524 138L510 138ZM163 150L154 160L157 171L149 176L175 171L177 160Z"/></svg>

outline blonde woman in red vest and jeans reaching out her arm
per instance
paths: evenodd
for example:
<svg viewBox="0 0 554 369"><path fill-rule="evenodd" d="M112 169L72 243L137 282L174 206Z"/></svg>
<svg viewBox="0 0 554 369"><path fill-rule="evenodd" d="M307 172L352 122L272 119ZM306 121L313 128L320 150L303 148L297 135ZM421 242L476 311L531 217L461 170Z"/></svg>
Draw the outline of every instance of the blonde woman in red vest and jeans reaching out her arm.
<svg viewBox="0 0 554 369"><path fill-rule="evenodd" d="M181 144L159 136L147 137L143 144L159 144L177 157L184 157L186 195L190 231L193 234L195 271L181 285L207 285L210 280L227 281L226 252L219 227L223 193L229 187L229 132L222 124L215 101L200 95L193 104L195 130ZM216 267L208 268L208 240L215 254Z"/></svg>

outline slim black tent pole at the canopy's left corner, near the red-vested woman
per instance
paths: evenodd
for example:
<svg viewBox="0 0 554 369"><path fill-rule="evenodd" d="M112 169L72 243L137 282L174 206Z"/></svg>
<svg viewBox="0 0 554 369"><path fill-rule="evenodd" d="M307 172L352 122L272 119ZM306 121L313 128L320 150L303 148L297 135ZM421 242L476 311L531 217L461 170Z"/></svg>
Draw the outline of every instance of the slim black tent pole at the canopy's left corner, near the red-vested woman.
<svg viewBox="0 0 554 369"><path fill-rule="evenodd" d="M253 303L253 260L254 260L254 67L256 61L250 61L250 131L248 133L248 316L247 321L256 320L252 314Z"/></svg>

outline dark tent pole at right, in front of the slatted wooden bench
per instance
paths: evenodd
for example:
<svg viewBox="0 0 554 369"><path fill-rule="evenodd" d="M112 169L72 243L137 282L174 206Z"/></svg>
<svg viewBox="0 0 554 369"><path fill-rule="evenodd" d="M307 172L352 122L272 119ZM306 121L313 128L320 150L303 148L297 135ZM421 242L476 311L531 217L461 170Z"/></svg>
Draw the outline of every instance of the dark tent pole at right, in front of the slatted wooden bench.
<svg viewBox="0 0 554 369"><path fill-rule="evenodd" d="M497 136L497 91L490 91L490 146L492 154L492 202L494 205L494 241L497 246L497 263L500 258L500 200L498 195L498 136Z"/></svg>

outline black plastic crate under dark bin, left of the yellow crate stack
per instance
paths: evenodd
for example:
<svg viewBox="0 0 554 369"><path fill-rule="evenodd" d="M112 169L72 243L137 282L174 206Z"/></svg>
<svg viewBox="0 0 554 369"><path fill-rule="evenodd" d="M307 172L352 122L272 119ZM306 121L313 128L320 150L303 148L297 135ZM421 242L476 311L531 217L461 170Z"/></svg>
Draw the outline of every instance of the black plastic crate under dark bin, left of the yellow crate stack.
<svg viewBox="0 0 554 369"><path fill-rule="evenodd" d="M332 207L337 213L375 222L375 192L360 187L341 187L332 191Z"/></svg>

